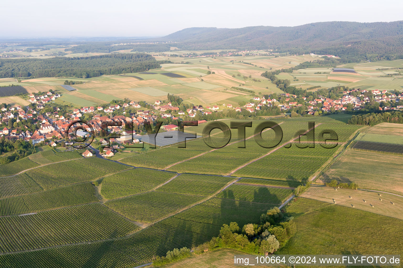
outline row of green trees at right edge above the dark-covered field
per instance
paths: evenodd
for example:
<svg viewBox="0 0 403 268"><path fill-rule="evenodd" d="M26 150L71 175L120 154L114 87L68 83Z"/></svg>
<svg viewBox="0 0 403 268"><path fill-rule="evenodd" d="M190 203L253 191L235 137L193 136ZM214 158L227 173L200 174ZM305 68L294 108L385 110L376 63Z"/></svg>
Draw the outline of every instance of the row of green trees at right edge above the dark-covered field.
<svg viewBox="0 0 403 268"><path fill-rule="evenodd" d="M348 123L352 125L377 125L379 123L403 124L403 112L392 111L384 113L369 113L366 115L353 115Z"/></svg>

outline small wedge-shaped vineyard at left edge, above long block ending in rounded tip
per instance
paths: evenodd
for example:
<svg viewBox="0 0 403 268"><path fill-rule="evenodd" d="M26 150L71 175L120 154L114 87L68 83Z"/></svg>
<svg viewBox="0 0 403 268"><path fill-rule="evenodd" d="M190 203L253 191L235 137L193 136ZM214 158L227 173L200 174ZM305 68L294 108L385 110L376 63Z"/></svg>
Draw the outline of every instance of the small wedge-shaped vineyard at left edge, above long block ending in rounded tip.
<svg viewBox="0 0 403 268"><path fill-rule="evenodd" d="M0 198L39 191L42 191L42 187L36 184L36 182L25 173L0 178Z"/></svg>

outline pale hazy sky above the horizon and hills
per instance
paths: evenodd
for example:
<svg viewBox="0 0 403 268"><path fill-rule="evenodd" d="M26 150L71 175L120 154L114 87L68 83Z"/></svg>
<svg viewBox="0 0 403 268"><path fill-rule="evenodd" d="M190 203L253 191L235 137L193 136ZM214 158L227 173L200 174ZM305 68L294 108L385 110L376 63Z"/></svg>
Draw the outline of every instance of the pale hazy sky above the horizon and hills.
<svg viewBox="0 0 403 268"><path fill-rule="evenodd" d="M163 36L188 27L403 20L403 1L20 0L0 4L0 37Z"/></svg>

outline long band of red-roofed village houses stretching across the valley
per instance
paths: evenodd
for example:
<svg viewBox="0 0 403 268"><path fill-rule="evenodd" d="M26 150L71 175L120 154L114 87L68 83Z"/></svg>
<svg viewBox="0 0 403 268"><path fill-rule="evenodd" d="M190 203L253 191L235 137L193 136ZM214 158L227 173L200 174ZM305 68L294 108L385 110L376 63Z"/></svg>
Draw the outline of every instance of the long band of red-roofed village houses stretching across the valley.
<svg viewBox="0 0 403 268"><path fill-rule="evenodd" d="M265 96L267 97L268 95ZM24 139L32 144L43 142L52 147L57 147L72 144L69 140L64 140L66 136L86 137L90 135L91 131L95 131L96 136L101 137L100 144L106 145L103 153L111 156L113 155L112 149L118 149L120 145L140 143L141 139L139 138L141 135L147 133L144 125L150 123L153 126L158 120L164 122L161 127L162 131L173 131L178 129L181 120L194 119L201 124L207 122L203 119L204 116L212 115L212 113L222 110L256 114L258 110L265 109L264 107L278 107L285 115L289 115L291 110L298 108L303 109L305 115L318 116L340 111L359 110L364 108L371 100L378 103L394 104L393 106L379 106L378 109L382 111L403 108L403 105L399 105L399 103L403 104L403 94L395 94L386 90L374 90L372 92L359 89L345 90L343 96L335 100L324 98L320 95L315 99L307 100L306 97L301 98L301 96L289 93L276 94L273 98L270 97L274 95L268 96L269 98L265 98L265 96L254 96L245 105L239 107L223 103L205 107L202 105L190 106L186 110L180 110L178 106L172 105L169 101L164 103L157 100L148 104L127 101L109 106L85 106L60 113L59 107L49 103L51 100L60 97L60 94L53 92L46 92L46 94L40 96L30 94L29 102L33 105L26 107L14 105L1 108L0 122L5 127L0 128L0 136L5 139ZM74 134L71 124L74 121L81 120L83 117L92 128L85 126L85 129L77 130ZM204 118L207 119L207 117ZM116 122L120 122L120 124ZM31 128L27 127L27 124ZM127 125L132 127L127 128ZM105 131L106 128L108 131ZM120 137L107 138L110 133L120 134ZM108 147L109 145L113 147L110 148Z"/></svg>

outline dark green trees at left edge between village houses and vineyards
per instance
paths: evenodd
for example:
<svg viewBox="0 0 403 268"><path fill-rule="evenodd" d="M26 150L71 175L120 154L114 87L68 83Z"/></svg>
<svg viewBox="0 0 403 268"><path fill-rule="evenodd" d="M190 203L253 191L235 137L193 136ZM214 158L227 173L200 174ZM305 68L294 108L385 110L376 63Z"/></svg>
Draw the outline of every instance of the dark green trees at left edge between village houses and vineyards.
<svg viewBox="0 0 403 268"><path fill-rule="evenodd" d="M0 139L0 153L8 153L5 157L0 158L0 164L6 164L15 160L24 158L31 153L36 153L35 146L29 141L24 141L23 139L6 139L4 136Z"/></svg>

